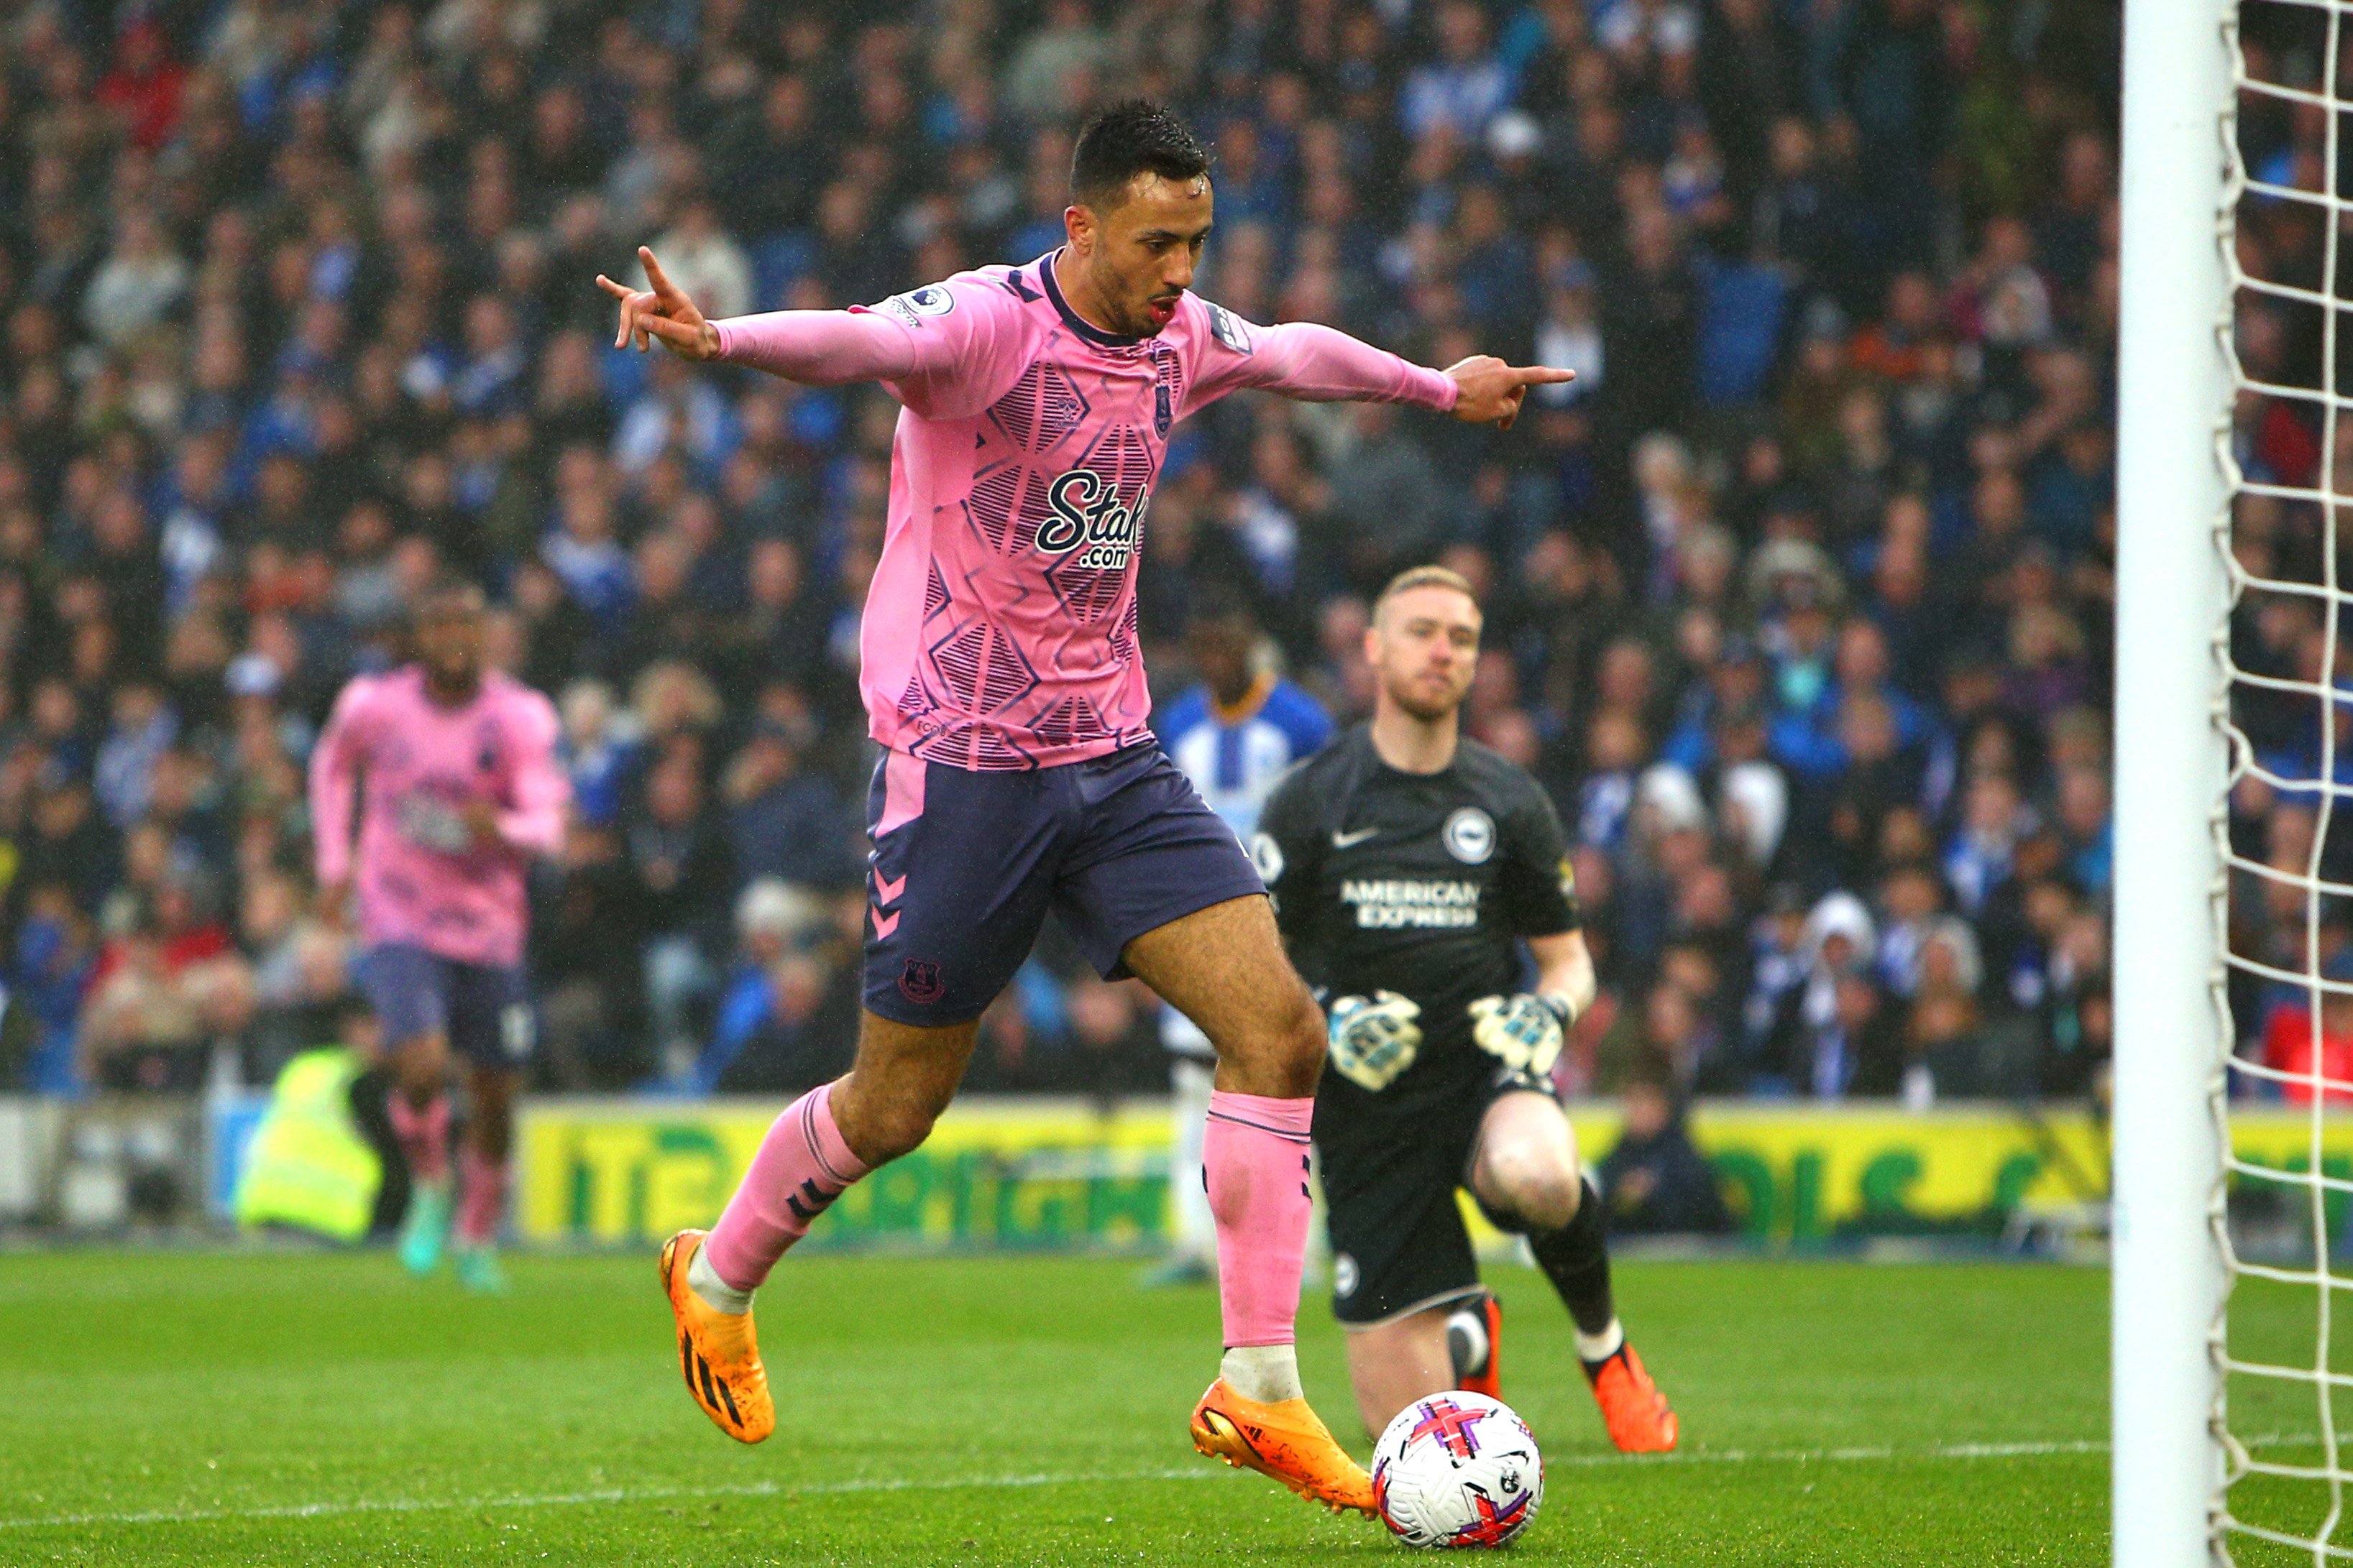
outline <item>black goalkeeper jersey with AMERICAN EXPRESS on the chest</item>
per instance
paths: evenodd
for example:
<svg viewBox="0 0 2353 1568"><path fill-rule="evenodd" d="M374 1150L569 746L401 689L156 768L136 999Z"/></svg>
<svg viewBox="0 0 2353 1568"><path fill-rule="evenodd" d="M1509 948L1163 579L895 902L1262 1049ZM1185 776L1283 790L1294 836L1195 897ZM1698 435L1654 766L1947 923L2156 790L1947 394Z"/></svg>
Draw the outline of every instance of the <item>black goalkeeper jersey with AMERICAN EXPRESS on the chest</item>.
<svg viewBox="0 0 2353 1568"><path fill-rule="evenodd" d="M1485 1079L1471 1004L1520 990L1520 938L1577 931L1551 797L1464 741L1442 773L1400 773L1358 726L1301 762L1259 813L1252 856L1299 973L1325 999L1393 990L1421 1006L1421 1053L1379 1095L1337 1072L1320 1103L1405 1107Z"/></svg>

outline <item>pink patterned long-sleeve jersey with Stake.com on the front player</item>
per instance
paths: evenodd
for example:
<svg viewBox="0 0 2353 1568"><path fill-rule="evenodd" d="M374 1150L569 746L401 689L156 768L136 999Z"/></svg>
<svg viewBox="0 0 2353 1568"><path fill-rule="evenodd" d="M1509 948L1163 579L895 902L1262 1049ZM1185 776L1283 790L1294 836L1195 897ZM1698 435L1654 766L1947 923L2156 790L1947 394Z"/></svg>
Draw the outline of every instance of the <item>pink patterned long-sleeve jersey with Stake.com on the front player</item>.
<svg viewBox="0 0 2353 1568"><path fill-rule="evenodd" d="M1136 557L1169 425L1235 388L1454 407L1454 381L1315 327L1186 294L1120 339L1054 252L856 310L718 322L720 357L901 402L889 527L859 644L868 729L960 769L1080 762L1146 738Z"/></svg>

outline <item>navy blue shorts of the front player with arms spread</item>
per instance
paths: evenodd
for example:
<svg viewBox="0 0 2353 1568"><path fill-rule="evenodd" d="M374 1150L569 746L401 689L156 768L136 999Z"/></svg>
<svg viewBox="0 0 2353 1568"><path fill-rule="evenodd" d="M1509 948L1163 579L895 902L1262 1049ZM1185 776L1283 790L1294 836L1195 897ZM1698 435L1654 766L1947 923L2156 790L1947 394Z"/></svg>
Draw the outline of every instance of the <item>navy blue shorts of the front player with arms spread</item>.
<svg viewBox="0 0 2353 1568"><path fill-rule="evenodd" d="M1021 773L885 752L866 832L866 1006L925 1027L979 1018L1047 910L1115 980L1146 931L1266 891L1158 743Z"/></svg>

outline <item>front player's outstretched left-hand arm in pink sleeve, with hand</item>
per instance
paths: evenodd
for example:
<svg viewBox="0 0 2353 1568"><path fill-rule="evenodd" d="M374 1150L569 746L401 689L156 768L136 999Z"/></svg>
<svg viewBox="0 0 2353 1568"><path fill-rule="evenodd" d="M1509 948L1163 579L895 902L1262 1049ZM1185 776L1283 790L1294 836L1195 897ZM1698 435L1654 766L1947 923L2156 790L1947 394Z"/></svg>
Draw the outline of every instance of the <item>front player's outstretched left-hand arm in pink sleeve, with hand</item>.
<svg viewBox="0 0 2353 1568"><path fill-rule="evenodd" d="M802 386L849 381L901 381L925 369L925 343L896 315L882 310L767 310L725 322L704 313L661 270L654 252L638 247L652 289L631 289L598 273L595 284L621 301L621 324L612 346L647 353L661 343L680 360L751 364ZM944 334L934 334L944 339ZM929 357L941 360L941 341Z"/></svg>

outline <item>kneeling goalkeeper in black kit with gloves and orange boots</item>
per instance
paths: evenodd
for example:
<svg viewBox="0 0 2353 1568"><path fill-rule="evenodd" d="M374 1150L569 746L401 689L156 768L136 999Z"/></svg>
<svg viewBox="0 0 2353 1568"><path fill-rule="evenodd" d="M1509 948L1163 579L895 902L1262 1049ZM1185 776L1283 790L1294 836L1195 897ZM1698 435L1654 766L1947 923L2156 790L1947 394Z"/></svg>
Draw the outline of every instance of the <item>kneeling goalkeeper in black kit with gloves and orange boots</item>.
<svg viewBox="0 0 2353 1568"><path fill-rule="evenodd" d="M1609 1441L1664 1453L1675 1413L1617 1321L1602 1204L1551 1086L1593 1001L1560 816L1457 733L1478 637L1461 576L1398 576L1365 632L1372 722L1282 778L1252 844L1329 1016L1315 1150L1332 1309L1367 1429L1445 1389L1494 1396L1501 1307L1480 1288L1466 1187L1567 1302Z"/></svg>

